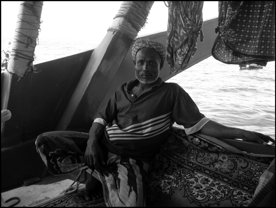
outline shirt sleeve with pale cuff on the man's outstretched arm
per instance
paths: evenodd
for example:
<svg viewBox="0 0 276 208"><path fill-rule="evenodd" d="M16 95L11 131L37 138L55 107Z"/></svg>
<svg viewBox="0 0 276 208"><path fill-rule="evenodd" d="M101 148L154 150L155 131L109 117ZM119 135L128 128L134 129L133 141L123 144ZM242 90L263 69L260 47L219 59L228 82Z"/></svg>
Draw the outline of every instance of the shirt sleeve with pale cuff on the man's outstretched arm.
<svg viewBox="0 0 276 208"><path fill-rule="evenodd" d="M182 96L175 102L172 117L178 125L185 128L186 134L199 131L210 119L206 118L194 103L194 100L183 90Z"/></svg>

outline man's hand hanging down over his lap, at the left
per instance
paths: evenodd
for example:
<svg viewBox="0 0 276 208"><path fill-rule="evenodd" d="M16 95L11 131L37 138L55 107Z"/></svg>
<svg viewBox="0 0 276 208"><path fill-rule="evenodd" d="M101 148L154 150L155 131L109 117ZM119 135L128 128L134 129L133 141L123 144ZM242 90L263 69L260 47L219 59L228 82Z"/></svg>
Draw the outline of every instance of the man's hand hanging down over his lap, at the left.
<svg viewBox="0 0 276 208"><path fill-rule="evenodd" d="M105 162L103 160L102 150L98 142L87 143L87 147L84 153L84 162L93 170L102 169L102 165L104 165Z"/></svg>

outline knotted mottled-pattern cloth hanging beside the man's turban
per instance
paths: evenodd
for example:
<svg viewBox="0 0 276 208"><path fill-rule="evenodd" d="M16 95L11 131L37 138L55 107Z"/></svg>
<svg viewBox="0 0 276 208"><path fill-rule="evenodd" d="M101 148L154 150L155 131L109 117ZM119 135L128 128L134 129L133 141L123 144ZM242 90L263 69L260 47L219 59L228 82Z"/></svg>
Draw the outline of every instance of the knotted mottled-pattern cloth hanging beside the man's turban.
<svg viewBox="0 0 276 208"><path fill-rule="evenodd" d="M184 70L197 51L197 37L203 41L203 1L169 2L167 56L170 74Z"/></svg>

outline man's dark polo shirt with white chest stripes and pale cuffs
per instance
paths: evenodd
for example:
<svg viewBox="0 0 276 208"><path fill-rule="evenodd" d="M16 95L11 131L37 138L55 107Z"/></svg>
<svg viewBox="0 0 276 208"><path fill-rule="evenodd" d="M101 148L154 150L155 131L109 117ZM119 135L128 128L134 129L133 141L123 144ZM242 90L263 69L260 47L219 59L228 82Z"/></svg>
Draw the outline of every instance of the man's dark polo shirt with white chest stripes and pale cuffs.
<svg viewBox="0 0 276 208"><path fill-rule="evenodd" d="M135 79L119 86L94 120L106 127L103 143L108 151L148 161L170 135L174 122L192 134L209 121L178 84L159 77L136 97L131 89L138 83Z"/></svg>

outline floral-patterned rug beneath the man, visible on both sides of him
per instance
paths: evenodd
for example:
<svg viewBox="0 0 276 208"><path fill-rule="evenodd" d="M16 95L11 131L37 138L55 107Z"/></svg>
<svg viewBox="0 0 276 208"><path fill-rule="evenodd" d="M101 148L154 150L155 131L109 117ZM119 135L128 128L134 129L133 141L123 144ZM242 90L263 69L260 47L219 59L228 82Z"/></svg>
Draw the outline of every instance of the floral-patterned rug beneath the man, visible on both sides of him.
<svg viewBox="0 0 276 208"><path fill-rule="evenodd" d="M150 163L146 206L247 206L274 157L243 153L219 139L172 128ZM105 206L105 201L86 202L82 187L36 206Z"/></svg>

